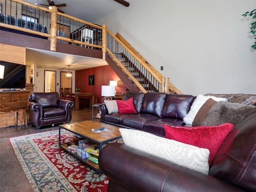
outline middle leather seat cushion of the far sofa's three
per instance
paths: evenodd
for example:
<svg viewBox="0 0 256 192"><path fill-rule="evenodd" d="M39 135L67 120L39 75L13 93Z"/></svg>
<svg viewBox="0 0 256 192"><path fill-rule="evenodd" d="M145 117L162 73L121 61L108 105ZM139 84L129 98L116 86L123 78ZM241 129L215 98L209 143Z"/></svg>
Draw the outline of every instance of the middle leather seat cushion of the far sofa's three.
<svg viewBox="0 0 256 192"><path fill-rule="evenodd" d="M144 124L148 121L158 120L159 117L153 114L135 114L122 119L122 125L144 130Z"/></svg>

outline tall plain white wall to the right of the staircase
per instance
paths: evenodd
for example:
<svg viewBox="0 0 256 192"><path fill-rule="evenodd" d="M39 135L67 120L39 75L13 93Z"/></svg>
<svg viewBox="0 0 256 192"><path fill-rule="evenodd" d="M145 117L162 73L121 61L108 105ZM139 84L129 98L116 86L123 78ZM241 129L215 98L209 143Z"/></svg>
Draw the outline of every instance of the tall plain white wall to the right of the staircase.
<svg viewBox="0 0 256 192"><path fill-rule="evenodd" d="M256 94L252 20L241 16L255 0L129 2L96 23L123 36L182 93Z"/></svg>

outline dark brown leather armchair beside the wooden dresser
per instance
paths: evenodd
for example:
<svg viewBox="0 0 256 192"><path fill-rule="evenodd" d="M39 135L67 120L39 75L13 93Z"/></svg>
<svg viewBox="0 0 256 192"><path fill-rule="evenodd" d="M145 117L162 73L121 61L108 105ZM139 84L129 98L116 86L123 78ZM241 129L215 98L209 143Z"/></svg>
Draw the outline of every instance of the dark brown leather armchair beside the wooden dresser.
<svg viewBox="0 0 256 192"><path fill-rule="evenodd" d="M44 125L69 123L73 106L72 101L60 99L58 92L32 93L28 106L30 122L37 129Z"/></svg>

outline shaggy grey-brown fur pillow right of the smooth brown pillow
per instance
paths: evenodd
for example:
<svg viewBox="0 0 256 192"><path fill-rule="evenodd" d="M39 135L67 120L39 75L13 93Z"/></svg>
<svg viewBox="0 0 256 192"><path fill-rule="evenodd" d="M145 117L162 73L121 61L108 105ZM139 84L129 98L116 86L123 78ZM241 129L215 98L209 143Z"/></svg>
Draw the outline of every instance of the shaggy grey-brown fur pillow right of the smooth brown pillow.
<svg viewBox="0 0 256 192"><path fill-rule="evenodd" d="M210 108L202 126L213 126L226 122L237 126L253 108L255 106L220 101Z"/></svg>

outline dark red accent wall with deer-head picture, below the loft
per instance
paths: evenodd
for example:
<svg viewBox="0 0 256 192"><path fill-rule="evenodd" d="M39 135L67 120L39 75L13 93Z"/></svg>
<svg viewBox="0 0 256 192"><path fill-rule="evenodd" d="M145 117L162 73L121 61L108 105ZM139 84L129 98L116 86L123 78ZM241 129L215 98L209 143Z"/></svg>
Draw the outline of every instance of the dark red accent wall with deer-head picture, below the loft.
<svg viewBox="0 0 256 192"><path fill-rule="evenodd" d="M94 75L94 85L89 85L89 76ZM120 80L120 78L116 75L116 73L112 70L109 65L77 70L76 71L76 80L75 87L80 88L80 92L83 93L94 93L95 98L98 103L101 103L101 86L108 85L110 80L117 81L116 92L124 93L126 92L126 86Z"/></svg>

